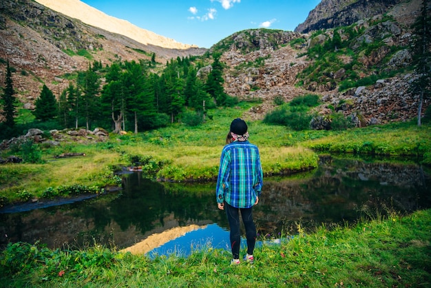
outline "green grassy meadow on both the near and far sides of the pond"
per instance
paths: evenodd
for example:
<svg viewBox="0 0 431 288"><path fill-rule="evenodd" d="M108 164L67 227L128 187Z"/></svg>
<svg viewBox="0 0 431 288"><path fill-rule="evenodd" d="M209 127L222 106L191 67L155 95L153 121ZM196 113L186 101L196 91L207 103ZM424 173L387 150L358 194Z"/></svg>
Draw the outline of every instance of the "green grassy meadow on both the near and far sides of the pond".
<svg viewBox="0 0 431 288"><path fill-rule="evenodd" d="M139 163L159 181L215 181L232 119L247 107L220 109L202 125L111 134L91 145L36 148L40 163L0 166L1 205L38 198L103 193L119 185L115 172ZM246 118L245 118L246 119ZM318 165L319 154L431 164L431 127L391 123L341 131L293 131L249 121L265 174L295 174ZM54 159L65 152L83 157ZM6 152L3 152L6 153ZM10 153L10 152L9 152ZM383 160L382 160L383 159ZM427 287L431 285L431 209L400 214L385 207L353 225L325 226L280 245L255 249L255 264L229 265L230 252L211 246L191 256L150 259L94 245L48 249L10 243L0 253L1 287ZM385 216L383 216L385 215ZM262 236L260 240L266 239Z"/></svg>

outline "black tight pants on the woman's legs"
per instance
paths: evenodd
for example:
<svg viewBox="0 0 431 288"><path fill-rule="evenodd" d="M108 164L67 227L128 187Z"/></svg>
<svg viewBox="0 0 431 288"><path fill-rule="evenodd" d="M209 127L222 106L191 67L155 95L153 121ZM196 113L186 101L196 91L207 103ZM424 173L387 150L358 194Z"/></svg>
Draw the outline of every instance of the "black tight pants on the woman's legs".
<svg viewBox="0 0 431 288"><path fill-rule="evenodd" d="M242 223L244 223L245 227L247 239L247 253L253 255L253 250L255 249L256 243L256 227L253 222L253 207L235 208L225 202L224 209L226 210L227 220L229 221L229 227L231 228L230 238L233 259L240 258L240 211L242 216Z"/></svg>

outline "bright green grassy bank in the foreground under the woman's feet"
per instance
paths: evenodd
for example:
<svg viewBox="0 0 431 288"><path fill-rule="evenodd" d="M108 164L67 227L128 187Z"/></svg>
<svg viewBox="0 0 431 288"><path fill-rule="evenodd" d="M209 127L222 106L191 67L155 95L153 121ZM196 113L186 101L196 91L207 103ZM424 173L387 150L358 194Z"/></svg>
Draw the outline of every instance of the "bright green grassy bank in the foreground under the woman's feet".
<svg viewBox="0 0 431 288"><path fill-rule="evenodd" d="M429 287L431 209L320 227L255 249L255 264L204 247L151 260L94 247L61 251L16 243L0 254L2 287ZM244 252L244 251L243 251Z"/></svg>

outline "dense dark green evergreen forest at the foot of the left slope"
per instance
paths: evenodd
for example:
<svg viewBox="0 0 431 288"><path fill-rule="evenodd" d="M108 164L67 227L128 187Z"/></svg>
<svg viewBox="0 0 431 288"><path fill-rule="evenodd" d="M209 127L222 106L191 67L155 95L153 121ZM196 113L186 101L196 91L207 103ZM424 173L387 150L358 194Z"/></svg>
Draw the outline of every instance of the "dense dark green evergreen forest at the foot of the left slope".
<svg viewBox="0 0 431 288"><path fill-rule="evenodd" d="M211 72L203 77L198 77L198 70L204 61L194 56L171 59L158 74L151 72L156 65L160 64L141 60L116 61L103 67L94 61L86 71L76 72L76 81L71 81L58 99L43 85L34 102L34 124L55 122L61 129L103 127L116 133L138 133L178 121L197 125L207 110L236 103L223 90L220 54L212 55ZM12 87L12 83L8 85ZM8 130L12 126L10 123Z"/></svg>

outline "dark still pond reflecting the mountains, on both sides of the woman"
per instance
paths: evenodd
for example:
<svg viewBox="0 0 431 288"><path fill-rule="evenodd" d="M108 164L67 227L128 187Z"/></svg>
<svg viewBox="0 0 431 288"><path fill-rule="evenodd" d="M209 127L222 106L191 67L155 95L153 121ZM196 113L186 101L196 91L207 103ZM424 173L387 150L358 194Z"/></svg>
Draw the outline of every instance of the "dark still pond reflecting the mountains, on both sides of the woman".
<svg viewBox="0 0 431 288"><path fill-rule="evenodd" d="M322 158L313 172L264 178L253 214L258 233L266 238L294 235L298 223L331 227L375 212L406 214L431 207L430 179L429 171L414 164ZM123 175L121 192L19 213L0 209L0 223L2 248L9 242L40 241L53 249L101 244L120 250L156 236L160 242L146 242L151 249L145 252L162 251L160 245L178 250L204 244L229 247L229 226L215 203L215 183L158 183L141 172Z"/></svg>

